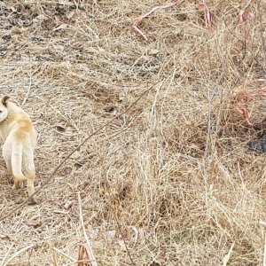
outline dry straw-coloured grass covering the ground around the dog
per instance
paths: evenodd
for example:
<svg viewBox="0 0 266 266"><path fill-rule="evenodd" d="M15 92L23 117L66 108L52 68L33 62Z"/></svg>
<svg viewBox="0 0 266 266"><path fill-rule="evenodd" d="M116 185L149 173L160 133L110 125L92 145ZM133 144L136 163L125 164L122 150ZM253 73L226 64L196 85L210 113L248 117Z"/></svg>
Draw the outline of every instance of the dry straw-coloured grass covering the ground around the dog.
<svg viewBox="0 0 266 266"><path fill-rule="evenodd" d="M246 142L263 132L246 126L236 98L264 78L266 4L247 6L252 48L238 26L244 0L207 1L210 30L197 1L155 12L140 25L145 42L131 25L158 4L0 2L1 90L35 121L36 186L108 110L122 113L161 81L74 153L39 205L0 223L1 266L76 266L78 192L98 265L131 264L115 216L136 265L262 265L265 157ZM3 159L0 174L1 217L26 191L12 192Z"/></svg>

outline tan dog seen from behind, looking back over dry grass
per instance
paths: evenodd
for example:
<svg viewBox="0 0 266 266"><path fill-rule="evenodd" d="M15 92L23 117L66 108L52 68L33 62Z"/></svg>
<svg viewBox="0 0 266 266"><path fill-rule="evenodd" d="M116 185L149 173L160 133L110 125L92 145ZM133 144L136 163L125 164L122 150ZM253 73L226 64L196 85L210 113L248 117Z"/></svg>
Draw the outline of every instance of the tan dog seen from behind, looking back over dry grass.
<svg viewBox="0 0 266 266"><path fill-rule="evenodd" d="M28 196L31 196L35 192L36 132L27 113L10 102L8 96L0 98L0 136L4 140L6 168L14 177L13 189L19 189L27 181ZM35 203L33 197L28 202Z"/></svg>

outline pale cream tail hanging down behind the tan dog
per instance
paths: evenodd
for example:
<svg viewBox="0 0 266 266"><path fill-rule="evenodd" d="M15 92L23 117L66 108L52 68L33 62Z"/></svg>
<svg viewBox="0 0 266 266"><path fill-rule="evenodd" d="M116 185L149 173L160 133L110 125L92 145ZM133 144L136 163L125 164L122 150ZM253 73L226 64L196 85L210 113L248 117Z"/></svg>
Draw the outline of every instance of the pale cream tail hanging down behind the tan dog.
<svg viewBox="0 0 266 266"><path fill-rule="evenodd" d="M22 153L23 145L18 143L12 145L12 174L18 181L27 180L27 177L22 173Z"/></svg>

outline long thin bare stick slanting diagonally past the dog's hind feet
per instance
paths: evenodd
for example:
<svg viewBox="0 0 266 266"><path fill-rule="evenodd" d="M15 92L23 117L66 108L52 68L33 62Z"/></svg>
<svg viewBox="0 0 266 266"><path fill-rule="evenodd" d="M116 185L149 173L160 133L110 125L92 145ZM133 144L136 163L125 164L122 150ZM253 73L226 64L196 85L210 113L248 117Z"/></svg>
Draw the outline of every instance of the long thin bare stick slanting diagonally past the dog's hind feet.
<svg viewBox="0 0 266 266"><path fill-rule="evenodd" d="M73 153L75 153L77 150L79 150L81 147L82 147L82 145L84 145L91 137L93 137L93 136L95 136L96 134L98 134L98 132L99 131L101 131L102 129L104 129L104 128L106 128L106 126L108 126L109 124L111 124L114 120L116 120L116 119L118 119L121 115L123 115L123 114L125 114L125 113L128 113L129 112L129 110L133 107L133 106L135 106L135 104L137 104L137 102L141 99L141 98L143 98L144 96L145 96L145 94L147 93L147 92L149 92L150 90L152 90L153 89L153 87L155 86L155 85L157 85L157 84L159 84L160 82L156 82L156 83L154 83L150 88L148 88L147 90L145 90L123 113L121 113L121 114L118 114L118 115L116 115L116 116L114 116L113 117L113 119L111 119L110 121L108 121L108 122L106 122L106 124L104 124L103 126L101 126L101 127L99 127L96 131L94 131L92 134L90 134L90 136L89 137L86 137L83 141L82 141L82 143L80 144L80 145L78 145L76 148L74 148L74 150L71 152L71 153L69 153L67 156L66 156L66 158L64 159L64 160L62 160L60 163L59 163L59 166L57 167L57 168L55 168L54 170L53 170L53 172L51 173L51 176L49 176L47 179L46 179L46 181L45 182L43 182L43 184L35 191L35 193L34 194L32 194L30 197L28 197L27 198L27 200L24 200L18 207L15 207L14 209L12 209L10 212L8 212L6 215L3 215L2 217L0 217L0 222L1 221L3 221L4 219L6 219L7 217L10 217L15 211L17 211L18 209L20 209L22 206L24 206L25 204L27 204L27 202L28 202L28 200L30 200L32 197L34 197L35 196L35 194L36 193L38 193L38 192L40 192L42 189L43 189L43 187L46 185L46 184L49 184L49 182L51 181L51 178L53 177L53 176L55 176L55 174L58 172L58 170L59 170L59 168L61 168L63 165L64 165L64 163L66 162L66 160L68 160L70 157L71 157L71 155L73 154Z"/></svg>

